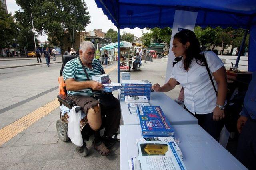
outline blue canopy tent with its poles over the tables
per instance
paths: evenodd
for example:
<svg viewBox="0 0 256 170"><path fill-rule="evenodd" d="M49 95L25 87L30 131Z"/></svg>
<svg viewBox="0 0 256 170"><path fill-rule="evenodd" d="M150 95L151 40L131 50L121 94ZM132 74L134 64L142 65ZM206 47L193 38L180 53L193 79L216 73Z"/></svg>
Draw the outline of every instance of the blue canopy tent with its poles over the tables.
<svg viewBox="0 0 256 170"><path fill-rule="evenodd" d="M119 29L172 27L175 10L198 12L196 25L201 27L244 28L246 29L244 41L250 31L248 71L256 71L256 0L95 0L95 2L118 28L118 49ZM236 66L241 51L239 50ZM119 55L118 82L120 81Z"/></svg>

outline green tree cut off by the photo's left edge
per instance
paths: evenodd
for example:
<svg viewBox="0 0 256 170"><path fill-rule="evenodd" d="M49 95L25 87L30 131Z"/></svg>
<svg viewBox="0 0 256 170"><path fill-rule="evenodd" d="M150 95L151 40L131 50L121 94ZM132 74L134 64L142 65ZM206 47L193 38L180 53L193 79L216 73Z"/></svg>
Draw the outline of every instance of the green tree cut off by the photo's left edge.
<svg viewBox="0 0 256 170"><path fill-rule="evenodd" d="M17 24L11 14L6 14L2 6L0 6L0 49L10 47L17 37ZM1 50L2 51L2 50ZM0 54L2 56L2 52Z"/></svg>

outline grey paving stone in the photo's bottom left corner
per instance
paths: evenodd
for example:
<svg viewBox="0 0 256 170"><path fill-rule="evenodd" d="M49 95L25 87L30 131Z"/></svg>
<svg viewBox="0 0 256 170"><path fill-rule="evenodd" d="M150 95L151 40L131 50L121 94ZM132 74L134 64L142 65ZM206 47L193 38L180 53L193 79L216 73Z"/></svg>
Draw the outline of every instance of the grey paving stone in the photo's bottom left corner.
<svg viewBox="0 0 256 170"><path fill-rule="evenodd" d="M0 164L1 170L38 170L42 169L45 162L28 162L19 164Z"/></svg>

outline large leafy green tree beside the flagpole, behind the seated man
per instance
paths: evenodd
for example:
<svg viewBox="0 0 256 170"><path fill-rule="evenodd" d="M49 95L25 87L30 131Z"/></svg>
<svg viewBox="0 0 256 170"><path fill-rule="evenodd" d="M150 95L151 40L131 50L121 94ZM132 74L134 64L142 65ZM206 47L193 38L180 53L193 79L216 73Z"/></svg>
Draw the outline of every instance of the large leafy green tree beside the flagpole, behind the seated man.
<svg viewBox="0 0 256 170"><path fill-rule="evenodd" d="M83 0L16 0L21 10L15 12L17 21L24 23L31 29L31 14L33 15L34 28L42 35L48 35L53 45L63 45L64 34L70 34L70 42L73 42L74 32L84 31L90 23L90 16Z"/></svg>

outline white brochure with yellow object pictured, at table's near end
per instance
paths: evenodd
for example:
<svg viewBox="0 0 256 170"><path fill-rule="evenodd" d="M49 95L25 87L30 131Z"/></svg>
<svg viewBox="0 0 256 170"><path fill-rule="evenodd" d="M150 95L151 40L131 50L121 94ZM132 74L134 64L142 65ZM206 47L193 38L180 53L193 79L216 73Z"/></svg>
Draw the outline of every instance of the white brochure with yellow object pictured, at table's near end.
<svg viewBox="0 0 256 170"><path fill-rule="evenodd" d="M138 141L139 155L129 160L132 170L186 170L173 143Z"/></svg>

